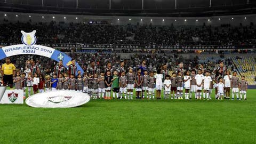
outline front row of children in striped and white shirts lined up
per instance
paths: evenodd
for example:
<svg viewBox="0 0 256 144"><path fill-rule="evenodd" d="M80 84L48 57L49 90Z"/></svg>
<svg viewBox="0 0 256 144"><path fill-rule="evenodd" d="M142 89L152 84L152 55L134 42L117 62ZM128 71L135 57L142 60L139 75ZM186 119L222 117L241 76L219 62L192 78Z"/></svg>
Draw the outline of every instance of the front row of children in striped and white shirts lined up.
<svg viewBox="0 0 256 144"><path fill-rule="evenodd" d="M230 98L230 90L232 90L232 99L236 94L236 98L243 98L246 100L247 82L245 77L242 76L241 81L237 77L237 72L233 72L233 76L230 75L230 71L226 72L226 75L222 78L217 76L215 73L206 71L205 75L202 74L202 70L198 70L197 74L195 70L186 71L185 76L182 76L181 71L176 76L176 73L172 75L163 75L161 69L157 70L157 74L153 71L149 72L145 70L141 75L141 70L137 70L137 74L133 74L133 69L129 68L129 72L125 74L125 71L121 72L121 76L118 76L118 72L115 70L112 76L110 70L107 71L107 75L102 71L100 75L93 74L91 76L82 77L81 74L70 75L60 74L59 78L57 75L46 75L44 79L43 75L35 73L31 77L26 78L26 74L17 72L17 76L14 77L15 89L23 89L26 91L28 86L28 94L30 96L32 87L33 93L54 91L54 90L77 90L88 93L91 98L110 98L110 91L113 90L113 98L125 99L133 98L133 89L135 87L135 95L137 99L145 98L145 92L148 99L156 98L161 99L161 90L164 88L164 98L168 99L183 99L183 89L185 89L185 99L191 99L191 93L195 93L196 99L211 99L210 95L212 89L215 89L215 98L225 99ZM165 77L165 78L164 78ZM164 78L164 80L163 80ZM120 94L120 95L119 95ZM122 96L121 96L122 95ZM24 92L25 96L25 92ZM120 97L119 97L120 96ZM206 96L206 97L205 97Z"/></svg>

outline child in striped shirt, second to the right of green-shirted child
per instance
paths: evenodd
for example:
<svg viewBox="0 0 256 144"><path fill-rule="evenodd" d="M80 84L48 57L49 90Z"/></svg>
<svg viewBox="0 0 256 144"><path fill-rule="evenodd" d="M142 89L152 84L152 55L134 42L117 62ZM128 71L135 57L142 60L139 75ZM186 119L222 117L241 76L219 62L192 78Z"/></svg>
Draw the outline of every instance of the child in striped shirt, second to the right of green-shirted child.
<svg viewBox="0 0 256 144"><path fill-rule="evenodd" d="M134 89L134 79L135 76L133 75L132 68L128 68L128 73L126 74L127 77L127 99L133 99L133 89Z"/></svg>

